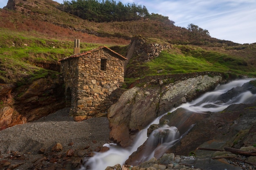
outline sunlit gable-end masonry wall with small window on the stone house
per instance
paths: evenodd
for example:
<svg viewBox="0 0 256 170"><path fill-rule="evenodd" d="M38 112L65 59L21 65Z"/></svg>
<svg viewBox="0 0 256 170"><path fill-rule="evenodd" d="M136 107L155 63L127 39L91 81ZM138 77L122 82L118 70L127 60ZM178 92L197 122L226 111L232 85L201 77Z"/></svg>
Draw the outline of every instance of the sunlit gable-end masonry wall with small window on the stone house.
<svg viewBox="0 0 256 170"><path fill-rule="evenodd" d="M106 49L79 57L76 116L95 117L107 111L108 96L124 82L124 60ZM106 59L106 71L101 70ZM104 103L104 104L103 104Z"/></svg>

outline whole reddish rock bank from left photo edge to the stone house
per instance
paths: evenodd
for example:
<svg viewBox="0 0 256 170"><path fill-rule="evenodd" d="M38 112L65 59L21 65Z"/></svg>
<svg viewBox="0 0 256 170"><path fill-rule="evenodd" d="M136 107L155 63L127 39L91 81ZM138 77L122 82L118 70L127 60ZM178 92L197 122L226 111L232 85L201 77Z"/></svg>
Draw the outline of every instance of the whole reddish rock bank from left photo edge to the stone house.
<svg viewBox="0 0 256 170"><path fill-rule="evenodd" d="M42 78L29 87L1 84L0 130L34 121L65 107L63 82Z"/></svg>

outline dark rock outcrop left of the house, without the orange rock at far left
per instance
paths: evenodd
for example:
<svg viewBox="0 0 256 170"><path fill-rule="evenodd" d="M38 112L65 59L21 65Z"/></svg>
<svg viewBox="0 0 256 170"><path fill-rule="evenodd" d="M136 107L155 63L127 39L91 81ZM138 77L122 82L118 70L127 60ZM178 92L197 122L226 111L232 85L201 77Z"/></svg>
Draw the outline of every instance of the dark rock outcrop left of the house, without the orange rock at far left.
<svg viewBox="0 0 256 170"><path fill-rule="evenodd" d="M34 81L29 87L18 89L13 108L27 119L34 121L65 107L63 82L50 77Z"/></svg>

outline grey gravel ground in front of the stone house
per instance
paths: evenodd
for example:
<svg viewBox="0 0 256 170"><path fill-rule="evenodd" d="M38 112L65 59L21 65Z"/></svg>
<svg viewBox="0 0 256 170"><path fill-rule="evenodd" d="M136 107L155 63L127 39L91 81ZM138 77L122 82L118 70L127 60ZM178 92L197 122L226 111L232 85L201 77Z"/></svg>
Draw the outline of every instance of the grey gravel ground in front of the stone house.
<svg viewBox="0 0 256 170"><path fill-rule="evenodd" d="M33 159L40 157L41 148L49 152L57 143L63 146L63 152L86 147L93 151L110 143L106 117L75 122L68 112L69 108L64 108L37 121L0 131L0 155L6 157L11 151L25 154L29 160L19 166L25 169ZM70 143L74 144L69 146Z"/></svg>

